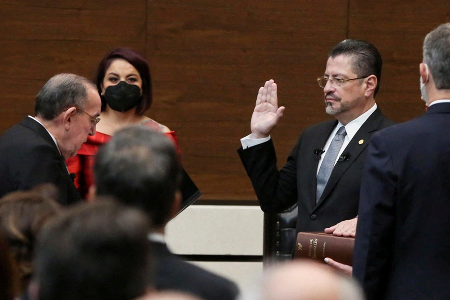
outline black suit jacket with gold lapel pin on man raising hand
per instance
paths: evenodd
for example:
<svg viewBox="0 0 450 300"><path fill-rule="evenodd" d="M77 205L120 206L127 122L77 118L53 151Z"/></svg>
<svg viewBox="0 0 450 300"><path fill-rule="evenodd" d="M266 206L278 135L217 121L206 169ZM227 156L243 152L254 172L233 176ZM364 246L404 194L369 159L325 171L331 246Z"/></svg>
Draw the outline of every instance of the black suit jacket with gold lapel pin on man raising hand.
<svg viewBox="0 0 450 300"><path fill-rule="evenodd" d="M316 204L315 151L324 146L336 124L330 120L306 128L279 171L271 140L237 150L264 212L281 212L298 203L297 232L323 231L357 215L366 146L374 132L393 122L378 108L367 118L342 152L348 159L336 162Z"/></svg>

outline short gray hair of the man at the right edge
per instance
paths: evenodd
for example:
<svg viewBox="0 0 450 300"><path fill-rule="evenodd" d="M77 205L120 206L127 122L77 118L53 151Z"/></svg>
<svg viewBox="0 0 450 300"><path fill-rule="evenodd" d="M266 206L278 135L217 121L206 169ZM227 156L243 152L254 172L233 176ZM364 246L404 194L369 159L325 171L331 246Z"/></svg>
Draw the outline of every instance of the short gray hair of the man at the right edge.
<svg viewBox="0 0 450 300"><path fill-rule="evenodd" d="M450 89L450 23L437 26L423 41L423 62L428 64L437 89Z"/></svg>

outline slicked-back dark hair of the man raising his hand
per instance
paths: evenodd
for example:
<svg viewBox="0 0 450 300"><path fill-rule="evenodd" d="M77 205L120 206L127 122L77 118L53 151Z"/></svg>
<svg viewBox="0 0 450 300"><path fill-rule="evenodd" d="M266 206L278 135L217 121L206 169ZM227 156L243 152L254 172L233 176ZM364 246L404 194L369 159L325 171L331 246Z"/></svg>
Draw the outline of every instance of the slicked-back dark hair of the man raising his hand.
<svg viewBox="0 0 450 300"><path fill-rule="evenodd" d="M338 55L351 58L351 69L356 76L364 77L372 74L376 76L377 82L373 92L373 97L375 97L381 82L381 68L383 66L381 54L376 47L365 40L344 39L328 53L328 57L332 58Z"/></svg>

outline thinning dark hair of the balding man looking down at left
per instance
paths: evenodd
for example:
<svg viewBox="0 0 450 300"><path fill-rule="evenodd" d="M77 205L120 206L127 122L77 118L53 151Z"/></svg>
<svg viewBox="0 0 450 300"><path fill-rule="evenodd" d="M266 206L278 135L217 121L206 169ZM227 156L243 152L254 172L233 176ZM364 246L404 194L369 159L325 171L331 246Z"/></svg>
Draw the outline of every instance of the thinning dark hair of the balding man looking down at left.
<svg viewBox="0 0 450 300"><path fill-rule="evenodd" d="M34 112L46 120L52 120L64 109L78 107L86 109L87 88L95 85L75 74L62 73L51 77L37 93ZM76 110L78 114L83 113Z"/></svg>

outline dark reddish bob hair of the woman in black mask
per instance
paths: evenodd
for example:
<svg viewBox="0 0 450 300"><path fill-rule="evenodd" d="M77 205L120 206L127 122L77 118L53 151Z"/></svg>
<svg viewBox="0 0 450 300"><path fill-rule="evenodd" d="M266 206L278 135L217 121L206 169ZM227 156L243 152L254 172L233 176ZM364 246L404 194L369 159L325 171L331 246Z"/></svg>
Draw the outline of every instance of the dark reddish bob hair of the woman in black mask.
<svg viewBox="0 0 450 300"><path fill-rule="evenodd" d="M124 59L128 61L139 72L140 78L142 79L142 96L134 112L135 114L143 114L145 110L150 108L152 102L150 69L145 58L140 53L130 48L112 49L106 53L98 64L94 81L97 85L98 93L100 93L101 111L106 109L106 100L101 96L101 86L106 70L115 59Z"/></svg>

